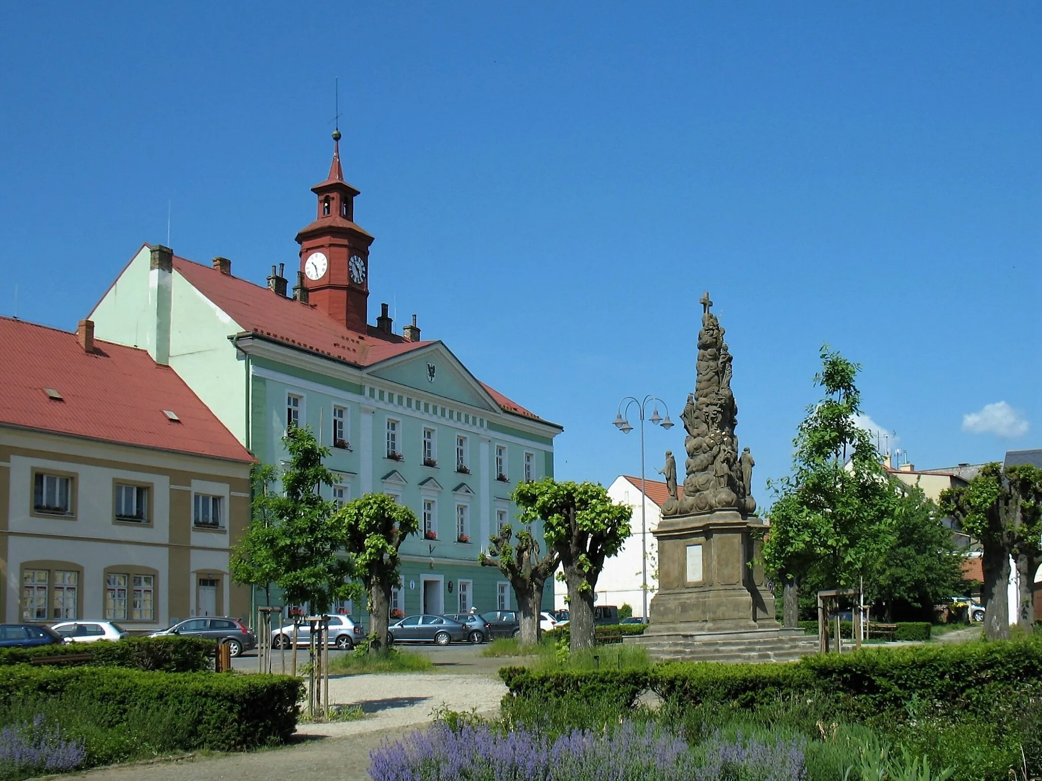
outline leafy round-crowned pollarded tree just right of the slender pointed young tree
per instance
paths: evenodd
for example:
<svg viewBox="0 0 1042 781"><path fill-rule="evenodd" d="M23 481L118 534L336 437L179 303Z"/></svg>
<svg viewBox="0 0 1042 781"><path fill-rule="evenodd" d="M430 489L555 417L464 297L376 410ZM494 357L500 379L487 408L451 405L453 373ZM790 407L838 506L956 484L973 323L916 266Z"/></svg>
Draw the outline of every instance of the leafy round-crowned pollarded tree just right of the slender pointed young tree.
<svg viewBox="0 0 1042 781"><path fill-rule="evenodd" d="M400 580L398 549L420 528L416 513L387 494L366 494L337 513L355 577L369 595L369 652L384 648L391 612L391 589Z"/></svg>

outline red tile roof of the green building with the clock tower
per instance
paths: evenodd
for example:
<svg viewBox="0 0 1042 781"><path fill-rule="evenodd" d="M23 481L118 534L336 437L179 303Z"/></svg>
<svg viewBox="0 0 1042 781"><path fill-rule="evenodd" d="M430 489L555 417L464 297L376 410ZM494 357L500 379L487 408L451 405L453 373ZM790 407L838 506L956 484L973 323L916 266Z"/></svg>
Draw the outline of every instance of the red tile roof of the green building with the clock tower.
<svg viewBox="0 0 1042 781"><path fill-rule="evenodd" d="M393 342L348 330L315 306L276 296L267 287L183 257L174 257L174 269L245 330L358 367L373 366L435 344ZM535 412L485 383L481 385L504 411L545 423Z"/></svg>

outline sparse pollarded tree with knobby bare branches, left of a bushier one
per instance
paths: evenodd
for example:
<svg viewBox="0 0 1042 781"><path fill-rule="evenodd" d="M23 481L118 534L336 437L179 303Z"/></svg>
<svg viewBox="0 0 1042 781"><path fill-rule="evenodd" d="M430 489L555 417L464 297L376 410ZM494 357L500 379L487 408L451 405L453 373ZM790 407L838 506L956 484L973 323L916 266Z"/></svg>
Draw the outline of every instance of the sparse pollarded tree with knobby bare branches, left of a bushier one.
<svg viewBox="0 0 1042 781"><path fill-rule="evenodd" d="M526 485L522 483L519 489ZM536 520L530 514L530 508L525 507L514 492L514 501L522 507L522 521L530 524ZM529 512L526 518L525 513ZM546 579L557 569L561 557L554 551L547 551L540 558L539 540L531 533L530 527L518 532L517 543L512 544L513 530L510 524L504 524L499 533L489 537L489 552L481 551L477 560L482 566L496 566L514 587L518 612L521 613L522 646L534 646L539 643L539 613L543 604L543 586Z"/></svg>

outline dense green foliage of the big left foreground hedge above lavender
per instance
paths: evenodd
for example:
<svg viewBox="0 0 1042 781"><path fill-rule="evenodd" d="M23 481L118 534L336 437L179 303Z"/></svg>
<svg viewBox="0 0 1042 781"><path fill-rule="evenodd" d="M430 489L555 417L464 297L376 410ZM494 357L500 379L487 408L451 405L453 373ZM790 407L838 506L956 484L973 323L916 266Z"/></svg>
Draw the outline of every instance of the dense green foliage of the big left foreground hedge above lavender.
<svg viewBox="0 0 1042 781"><path fill-rule="evenodd" d="M43 713L85 739L95 764L143 752L243 751L293 734L301 690L286 676L18 664L0 669L0 724Z"/></svg>

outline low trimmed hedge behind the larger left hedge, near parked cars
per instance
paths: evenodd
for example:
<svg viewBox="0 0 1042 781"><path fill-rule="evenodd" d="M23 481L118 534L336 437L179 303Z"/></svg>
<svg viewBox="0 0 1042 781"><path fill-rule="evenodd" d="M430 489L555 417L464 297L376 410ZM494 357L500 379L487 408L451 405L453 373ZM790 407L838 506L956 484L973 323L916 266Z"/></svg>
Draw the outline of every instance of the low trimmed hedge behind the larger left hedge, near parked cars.
<svg viewBox="0 0 1042 781"><path fill-rule="evenodd" d="M216 640L202 637L124 637L122 640L68 643L64 646L0 649L0 666L47 656L91 654L92 666L129 667L163 673L200 673L214 669ZM57 662L64 664L64 662Z"/></svg>

